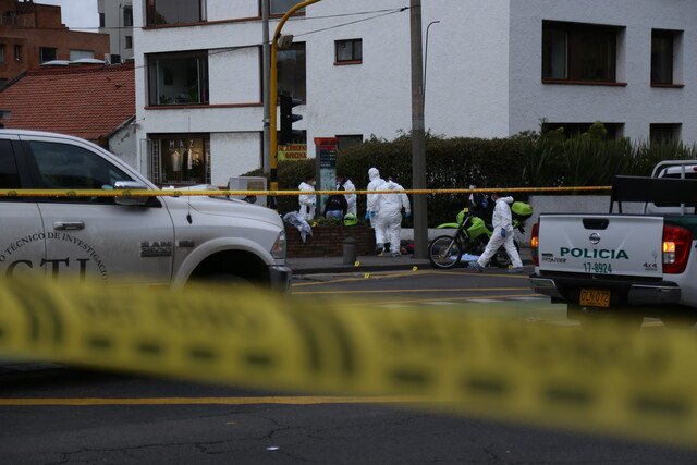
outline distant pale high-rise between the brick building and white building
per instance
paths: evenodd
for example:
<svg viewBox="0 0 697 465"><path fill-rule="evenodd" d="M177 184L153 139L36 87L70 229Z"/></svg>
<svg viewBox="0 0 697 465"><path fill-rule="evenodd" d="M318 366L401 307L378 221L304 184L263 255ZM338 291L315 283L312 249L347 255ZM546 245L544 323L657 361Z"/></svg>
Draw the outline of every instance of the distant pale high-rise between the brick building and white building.
<svg viewBox="0 0 697 465"><path fill-rule="evenodd" d="M99 12L99 32L109 34L110 56L108 61L115 64L132 59L132 0L97 0L97 10Z"/></svg>

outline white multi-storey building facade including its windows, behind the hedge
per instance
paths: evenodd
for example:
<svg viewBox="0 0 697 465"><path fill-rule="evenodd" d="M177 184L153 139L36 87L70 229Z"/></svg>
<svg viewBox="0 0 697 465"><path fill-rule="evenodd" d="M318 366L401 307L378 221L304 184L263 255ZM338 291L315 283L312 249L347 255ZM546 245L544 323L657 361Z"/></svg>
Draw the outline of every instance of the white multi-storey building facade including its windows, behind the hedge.
<svg viewBox="0 0 697 465"><path fill-rule="evenodd" d="M271 0L272 13L293 3ZM310 156L315 137L409 131L408 3L323 0L284 27L279 89L304 101L293 142ZM225 185L261 167L260 0L134 0L133 16L142 170ZM694 20L688 0L424 1L426 127L505 137L602 121L611 136L693 143Z"/></svg>

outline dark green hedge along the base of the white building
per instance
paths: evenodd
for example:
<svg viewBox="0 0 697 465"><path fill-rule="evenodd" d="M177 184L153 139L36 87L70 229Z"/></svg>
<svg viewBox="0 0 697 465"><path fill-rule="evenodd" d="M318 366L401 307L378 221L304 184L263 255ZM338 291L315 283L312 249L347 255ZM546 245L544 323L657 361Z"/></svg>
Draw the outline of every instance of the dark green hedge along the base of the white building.
<svg viewBox="0 0 697 465"><path fill-rule="evenodd" d="M521 133L506 138L445 138L427 134L426 183L429 189L466 188L473 180L482 187L548 187L611 185L616 174L649 175L665 159L696 159L697 147L681 143L632 143L606 140L602 123L588 132L565 138L563 129ZM412 187L412 140L402 134L394 140L372 136L338 155L337 171L345 173L364 189L368 169L382 178L392 176L404 188ZM315 159L279 163L279 188L295 191L306 175L315 174ZM262 175L256 170L246 175ZM454 221L467 205L467 195L428 195L429 224ZM527 195L516 195L525 201ZM296 197L280 197L279 211L297 210ZM364 195L358 196L358 218L365 213ZM319 213L319 211L318 211ZM411 225L411 220L404 221Z"/></svg>

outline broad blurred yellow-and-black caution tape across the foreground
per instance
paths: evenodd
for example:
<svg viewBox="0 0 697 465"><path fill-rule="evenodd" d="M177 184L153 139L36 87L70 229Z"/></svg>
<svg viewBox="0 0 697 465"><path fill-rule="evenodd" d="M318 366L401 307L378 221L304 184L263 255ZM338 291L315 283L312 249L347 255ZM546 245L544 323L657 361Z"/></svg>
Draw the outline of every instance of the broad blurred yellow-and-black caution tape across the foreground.
<svg viewBox="0 0 697 465"><path fill-rule="evenodd" d="M690 445L697 338L260 292L0 282L0 355L218 383L417 396L431 408Z"/></svg>

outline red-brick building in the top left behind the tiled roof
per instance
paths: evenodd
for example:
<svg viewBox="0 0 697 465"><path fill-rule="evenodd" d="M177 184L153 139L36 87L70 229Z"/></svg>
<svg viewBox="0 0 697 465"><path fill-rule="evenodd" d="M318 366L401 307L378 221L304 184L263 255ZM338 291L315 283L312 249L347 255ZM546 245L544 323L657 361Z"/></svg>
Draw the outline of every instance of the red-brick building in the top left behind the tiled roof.
<svg viewBox="0 0 697 465"><path fill-rule="evenodd" d="M0 0L0 85L53 60L103 59L109 38L69 30L61 8Z"/></svg>

